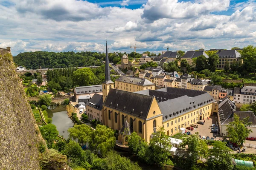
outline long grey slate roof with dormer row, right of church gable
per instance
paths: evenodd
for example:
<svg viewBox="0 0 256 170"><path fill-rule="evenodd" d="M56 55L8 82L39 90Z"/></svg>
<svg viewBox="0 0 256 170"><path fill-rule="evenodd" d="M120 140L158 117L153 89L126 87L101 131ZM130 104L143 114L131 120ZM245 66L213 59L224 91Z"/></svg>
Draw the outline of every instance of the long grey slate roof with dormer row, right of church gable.
<svg viewBox="0 0 256 170"><path fill-rule="evenodd" d="M194 97L189 97L187 95L181 96L175 99L160 102L158 105L163 114L163 122L166 122L169 119L181 116L212 102L215 102L215 100L212 99L209 94L205 93Z"/></svg>

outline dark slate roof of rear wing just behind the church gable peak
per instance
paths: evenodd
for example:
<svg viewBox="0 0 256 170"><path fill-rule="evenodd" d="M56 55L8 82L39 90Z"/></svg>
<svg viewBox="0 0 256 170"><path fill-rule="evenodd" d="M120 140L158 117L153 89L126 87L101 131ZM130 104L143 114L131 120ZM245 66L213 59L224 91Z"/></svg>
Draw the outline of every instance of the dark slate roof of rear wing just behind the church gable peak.
<svg viewBox="0 0 256 170"><path fill-rule="evenodd" d="M164 102L166 100L176 99L177 97L184 96L184 94L174 94L174 93L168 93L165 91L156 91L156 90L144 90L144 91L137 91L135 93L154 96L157 102Z"/></svg>

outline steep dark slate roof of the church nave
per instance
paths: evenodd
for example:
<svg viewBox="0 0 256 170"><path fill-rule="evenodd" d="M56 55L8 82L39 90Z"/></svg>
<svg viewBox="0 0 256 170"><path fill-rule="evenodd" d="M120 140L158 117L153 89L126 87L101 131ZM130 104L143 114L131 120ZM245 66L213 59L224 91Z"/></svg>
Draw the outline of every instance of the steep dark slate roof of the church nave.
<svg viewBox="0 0 256 170"><path fill-rule="evenodd" d="M153 99L154 96L111 88L103 105L145 120Z"/></svg>

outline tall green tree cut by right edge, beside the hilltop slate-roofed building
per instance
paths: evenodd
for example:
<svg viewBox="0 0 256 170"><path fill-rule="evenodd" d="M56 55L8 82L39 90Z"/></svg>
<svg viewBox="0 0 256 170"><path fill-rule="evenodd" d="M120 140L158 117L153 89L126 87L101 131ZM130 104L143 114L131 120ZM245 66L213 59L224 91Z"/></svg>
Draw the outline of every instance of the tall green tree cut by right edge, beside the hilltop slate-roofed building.
<svg viewBox="0 0 256 170"><path fill-rule="evenodd" d="M241 58L243 59L244 68L246 68L247 71L253 71L254 75L256 75L256 47L253 45L244 47L243 51L241 51Z"/></svg>

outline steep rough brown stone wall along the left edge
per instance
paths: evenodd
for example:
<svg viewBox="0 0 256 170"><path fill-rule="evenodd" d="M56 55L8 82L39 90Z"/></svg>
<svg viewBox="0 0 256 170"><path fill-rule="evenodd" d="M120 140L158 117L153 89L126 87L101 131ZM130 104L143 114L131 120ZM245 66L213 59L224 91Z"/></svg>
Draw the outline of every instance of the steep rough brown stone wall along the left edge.
<svg viewBox="0 0 256 170"><path fill-rule="evenodd" d="M0 48L0 169L40 170L41 134L9 48Z"/></svg>

